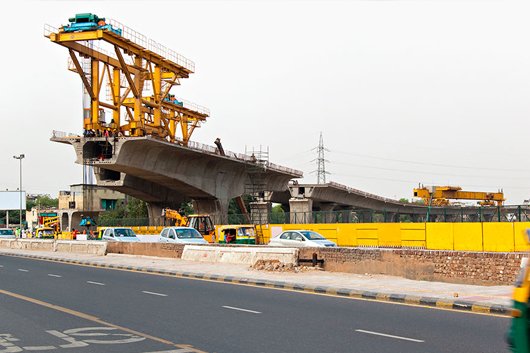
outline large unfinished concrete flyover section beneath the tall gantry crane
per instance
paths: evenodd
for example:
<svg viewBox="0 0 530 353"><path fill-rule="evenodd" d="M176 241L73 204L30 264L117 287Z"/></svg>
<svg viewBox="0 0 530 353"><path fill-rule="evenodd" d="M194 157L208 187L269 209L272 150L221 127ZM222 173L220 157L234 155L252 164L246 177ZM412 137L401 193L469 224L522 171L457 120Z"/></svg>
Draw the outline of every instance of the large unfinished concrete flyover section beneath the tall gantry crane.
<svg viewBox="0 0 530 353"><path fill-rule="evenodd" d="M259 164L253 156L226 152L188 142L188 146L153 136L84 137L54 132L52 141L74 147L78 164L94 167L96 182L148 202L150 216L164 207L194 201L197 212L223 219L230 199L255 184L263 191L285 191L302 172L273 163Z"/></svg>

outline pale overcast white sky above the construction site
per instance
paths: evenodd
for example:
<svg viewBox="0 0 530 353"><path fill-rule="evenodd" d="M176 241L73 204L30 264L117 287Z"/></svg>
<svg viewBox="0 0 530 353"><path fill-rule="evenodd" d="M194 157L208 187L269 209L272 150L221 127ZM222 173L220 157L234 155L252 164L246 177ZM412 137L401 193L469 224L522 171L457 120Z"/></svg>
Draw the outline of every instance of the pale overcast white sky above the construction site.
<svg viewBox="0 0 530 353"><path fill-rule="evenodd" d="M76 13L115 19L195 62L172 93L210 109L192 140L269 150L316 182L412 198L418 184L530 198L528 1L3 1L0 190L82 182L80 78L43 36Z"/></svg>

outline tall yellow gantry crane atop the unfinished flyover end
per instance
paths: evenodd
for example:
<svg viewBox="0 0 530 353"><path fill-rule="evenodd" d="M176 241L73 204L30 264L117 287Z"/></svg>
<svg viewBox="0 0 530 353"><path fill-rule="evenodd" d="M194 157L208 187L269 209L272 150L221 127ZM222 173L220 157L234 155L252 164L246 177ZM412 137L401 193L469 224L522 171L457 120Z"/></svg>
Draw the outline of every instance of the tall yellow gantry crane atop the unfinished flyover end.
<svg viewBox="0 0 530 353"><path fill-rule="evenodd" d="M195 64L114 20L85 13L69 22L46 25L44 35L68 49L69 69L81 77L85 135L151 135L188 145L209 111L170 91Z"/></svg>

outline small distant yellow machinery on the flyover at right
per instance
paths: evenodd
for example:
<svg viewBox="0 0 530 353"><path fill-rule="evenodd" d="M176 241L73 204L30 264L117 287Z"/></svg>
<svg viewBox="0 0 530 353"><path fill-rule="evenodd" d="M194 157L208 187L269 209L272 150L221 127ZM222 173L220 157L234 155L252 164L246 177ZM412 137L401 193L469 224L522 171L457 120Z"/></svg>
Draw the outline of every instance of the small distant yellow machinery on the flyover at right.
<svg viewBox="0 0 530 353"><path fill-rule="evenodd" d="M481 206L501 206L505 201L500 192L462 191L459 186L421 186L414 189L414 197L421 197L426 205L446 206L449 200L480 200Z"/></svg>

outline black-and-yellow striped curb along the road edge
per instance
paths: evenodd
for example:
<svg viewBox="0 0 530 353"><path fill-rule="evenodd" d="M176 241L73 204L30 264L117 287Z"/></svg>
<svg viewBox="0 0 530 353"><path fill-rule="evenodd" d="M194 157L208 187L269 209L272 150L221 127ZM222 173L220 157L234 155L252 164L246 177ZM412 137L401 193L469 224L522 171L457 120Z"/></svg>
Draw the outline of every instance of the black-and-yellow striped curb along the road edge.
<svg viewBox="0 0 530 353"><path fill-rule="evenodd" d="M309 292L316 294L327 294L340 297L350 297L357 299L368 299L382 302L393 302L401 304L412 304L420 305L427 307L436 307L444 309L452 309L459 311L468 311L481 314L491 314L491 315L501 315L501 316L510 316L512 308L506 305L501 304L486 304L481 302L466 301L466 300L450 300L450 299L441 299L436 297L418 297L410 296L405 294L398 293L380 293L374 291L363 291L358 289L347 289L347 288L336 288L328 286L310 286L293 282L280 282L280 281L270 281L265 279L253 279L253 278L244 278L244 277L235 277L235 276L223 276L216 274L206 274L199 272L187 272L187 271L174 271L174 270L163 270L153 267L138 267L130 265L113 265L105 264L101 262L93 261L84 261L84 260L73 260L53 256L42 256L42 255L29 255L29 254L17 254L10 252L0 252L0 255L14 256L14 257L24 257L37 260L50 260L57 262L64 262L77 265L87 265L99 268L108 268L115 270L128 270L128 271L137 271L144 273L154 273L169 275L182 278L191 278L191 279L204 279L209 281L217 281L224 283L235 283L235 284L245 284L253 285L266 288L276 288L276 289L288 289L292 291L300 292Z"/></svg>

